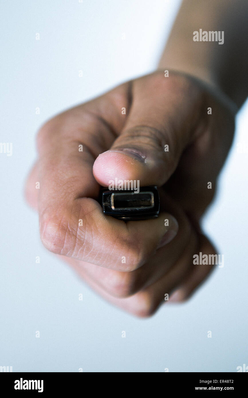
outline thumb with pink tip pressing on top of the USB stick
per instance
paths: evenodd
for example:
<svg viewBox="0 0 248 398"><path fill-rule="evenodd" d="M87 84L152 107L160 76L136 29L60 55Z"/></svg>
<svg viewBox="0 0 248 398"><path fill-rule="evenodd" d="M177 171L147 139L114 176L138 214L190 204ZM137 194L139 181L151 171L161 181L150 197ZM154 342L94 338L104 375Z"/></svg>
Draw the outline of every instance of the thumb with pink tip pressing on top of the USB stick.
<svg viewBox="0 0 248 398"><path fill-rule="evenodd" d="M125 128L94 162L94 177L101 185L117 178L161 186L176 169L194 139L199 92L183 76L169 79L157 72L134 80Z"/></svg>

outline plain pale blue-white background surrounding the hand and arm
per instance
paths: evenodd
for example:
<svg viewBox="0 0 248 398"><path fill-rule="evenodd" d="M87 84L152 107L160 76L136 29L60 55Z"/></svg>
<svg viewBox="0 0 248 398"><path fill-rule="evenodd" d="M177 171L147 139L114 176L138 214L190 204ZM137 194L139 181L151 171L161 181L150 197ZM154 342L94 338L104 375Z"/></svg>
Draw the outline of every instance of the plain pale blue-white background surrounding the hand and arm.
<svg viewBox="0 0 248 398"><path fill-rule="evenodd" d="M238 114L219 194L205 218L225 265L186 304L164 305L145 320L112 307L43 248L37 215L23 199L39 126L152 71L179 3L1 0L0 141L13 143L12 156L0 154L1 366L45 372L235 372L248 365L248 103ZM246 153L238 153L237 143Z"/></svg>

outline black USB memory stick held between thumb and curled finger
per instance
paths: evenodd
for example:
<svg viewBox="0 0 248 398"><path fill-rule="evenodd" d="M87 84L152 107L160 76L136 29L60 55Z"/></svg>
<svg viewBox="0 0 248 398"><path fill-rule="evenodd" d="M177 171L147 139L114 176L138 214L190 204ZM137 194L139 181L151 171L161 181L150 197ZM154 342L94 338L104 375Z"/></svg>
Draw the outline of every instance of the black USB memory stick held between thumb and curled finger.
<svg viewBox="0 0 248 398"><path fill-rule="evenodd" d="M159 194L157 187L135 190L109 190L102 188L103 213L122 220L146 220L158 217Z"/></svg>

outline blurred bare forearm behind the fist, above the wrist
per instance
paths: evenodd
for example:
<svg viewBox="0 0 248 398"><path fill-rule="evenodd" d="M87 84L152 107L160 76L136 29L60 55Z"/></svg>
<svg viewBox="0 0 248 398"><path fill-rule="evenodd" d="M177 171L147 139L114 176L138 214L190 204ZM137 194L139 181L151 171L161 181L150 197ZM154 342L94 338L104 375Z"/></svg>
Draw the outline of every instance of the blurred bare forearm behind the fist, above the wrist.
<svg viewBox="0 0 248 398"><path fill-rule="evenodd" d="M199 41L193 40L197 39L195 31ZM223 44L200 41L211 39L204 31L219 31ZM247 66L247 0L184 0L159 67L200 78L221 89L240 107L248 95Z"/></svg>

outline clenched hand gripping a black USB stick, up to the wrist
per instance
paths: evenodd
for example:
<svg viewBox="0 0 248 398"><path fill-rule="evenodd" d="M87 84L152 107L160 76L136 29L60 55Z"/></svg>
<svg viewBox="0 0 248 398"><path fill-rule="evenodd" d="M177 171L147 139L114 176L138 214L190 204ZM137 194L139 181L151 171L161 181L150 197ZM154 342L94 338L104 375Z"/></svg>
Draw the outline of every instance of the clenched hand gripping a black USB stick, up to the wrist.
<svg viewBox="0 0 248 398"><path fill-rule="evenodd" d="M199 220L213 199L233 130L232 113L212 94L187 76L165 78L163 71L54 117L39 131L39 159L26 185L43 244L135 315L154 313L166 293L169 302L185 300L213 267L193 265L193 254L215 253ZM99 188L115 178L160 187L158 219L104 216Z"/></svg>

